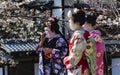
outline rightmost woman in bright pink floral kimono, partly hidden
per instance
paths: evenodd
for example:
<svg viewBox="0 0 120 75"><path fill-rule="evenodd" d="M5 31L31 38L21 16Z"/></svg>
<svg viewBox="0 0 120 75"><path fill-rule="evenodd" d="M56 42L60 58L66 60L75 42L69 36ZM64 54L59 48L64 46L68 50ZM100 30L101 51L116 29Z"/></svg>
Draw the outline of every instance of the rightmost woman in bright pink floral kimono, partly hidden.
<svg viewBox="0 0 120 75"><path fill-rule="evenodd" d="M95 51L96 51L96 75L104 75L104 65L103 65L103 57L104 57L104 42L101 37L101 32L99 30L95 30L94 26L96 24L97 15L93 12L89 12L86 17L86 22L83 25L83 28L90 32L90 37L93 37L95 40Z"/></svg>

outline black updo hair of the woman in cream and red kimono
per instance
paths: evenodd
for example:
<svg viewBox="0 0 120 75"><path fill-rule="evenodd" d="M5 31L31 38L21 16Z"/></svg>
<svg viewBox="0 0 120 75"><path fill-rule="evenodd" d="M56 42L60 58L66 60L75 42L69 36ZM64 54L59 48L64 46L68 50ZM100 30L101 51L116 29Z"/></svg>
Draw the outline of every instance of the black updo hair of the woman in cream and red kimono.
<svg viewBox="0 0 120 75"><path fill-rule="evenodd" d="M78 9L79 10L79 9ZM73 22L80 22L80 25L83 25L85 23L85 12L82 10L79 10L77 12L74 12L72 14L73 16Z"/></svg>

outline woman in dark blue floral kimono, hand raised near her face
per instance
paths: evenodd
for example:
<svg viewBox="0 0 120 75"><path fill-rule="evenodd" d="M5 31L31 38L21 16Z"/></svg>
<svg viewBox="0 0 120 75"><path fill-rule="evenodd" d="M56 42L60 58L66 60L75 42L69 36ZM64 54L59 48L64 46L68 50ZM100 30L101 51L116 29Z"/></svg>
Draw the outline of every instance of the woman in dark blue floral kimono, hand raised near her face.
<svg viewBox="0 0 120 75"><path fill-rule="evenodd" d="M55 17L47 20L45 32L36 47L39 50L39 75L67 75L63 59L68 54L68 44L57 22Z"/></svg>

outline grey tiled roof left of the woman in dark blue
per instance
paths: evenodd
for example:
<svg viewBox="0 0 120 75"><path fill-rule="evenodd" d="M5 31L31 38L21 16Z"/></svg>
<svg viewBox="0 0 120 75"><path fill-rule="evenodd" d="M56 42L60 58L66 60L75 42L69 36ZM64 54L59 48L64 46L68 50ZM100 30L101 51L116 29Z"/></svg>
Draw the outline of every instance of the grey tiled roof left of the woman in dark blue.
<svg viewBox="0 0 120 75"><path fill-rule="evenodd" d="M11 40L9 42L4 42L1 43L1 46L6 48L7 51L9 52L21 52L21 51L34 51L36 45L38 42L33 42L33 41L15 41Z"/></svg>

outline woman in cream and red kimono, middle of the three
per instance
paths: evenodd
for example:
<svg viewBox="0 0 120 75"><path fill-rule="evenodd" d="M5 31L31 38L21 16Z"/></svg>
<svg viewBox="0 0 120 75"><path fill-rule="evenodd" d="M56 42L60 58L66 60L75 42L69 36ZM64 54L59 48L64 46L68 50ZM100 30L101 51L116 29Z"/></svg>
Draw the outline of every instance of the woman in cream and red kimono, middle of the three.
<svg viewBox="0 0 120 75"><path fill-rule="evenodd" d="M73 34L69 41L69 56L65 57L68 75L91 75L88 61L85 56L87 46L88 31L82 29L85 22L85 12L75 8L68 12L69 27Z"/></svg>

